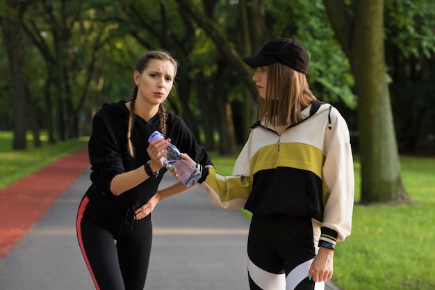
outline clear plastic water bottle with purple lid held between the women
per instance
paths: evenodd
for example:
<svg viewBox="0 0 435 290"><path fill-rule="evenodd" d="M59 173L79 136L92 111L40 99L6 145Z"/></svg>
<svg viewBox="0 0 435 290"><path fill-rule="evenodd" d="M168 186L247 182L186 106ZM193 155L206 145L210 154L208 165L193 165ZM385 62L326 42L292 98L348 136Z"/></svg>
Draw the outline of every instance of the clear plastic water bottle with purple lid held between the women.
<svg viewBox="0 0 435 290"><path fill-rule="evenodd" d="M159 131L154 131L151 136L149 136L148 142L151 143L151 141L157 139L165 139L165 137ZM197 168L192 166L188 161L182 159L180 151L175 145L170 143L166 151L166 156L162 158L163 162L165 162L167 166L173 165L174 168L177 169L180 181L187 187L197 183L199 178L201 178L201 171L197 170Z"/></svg>

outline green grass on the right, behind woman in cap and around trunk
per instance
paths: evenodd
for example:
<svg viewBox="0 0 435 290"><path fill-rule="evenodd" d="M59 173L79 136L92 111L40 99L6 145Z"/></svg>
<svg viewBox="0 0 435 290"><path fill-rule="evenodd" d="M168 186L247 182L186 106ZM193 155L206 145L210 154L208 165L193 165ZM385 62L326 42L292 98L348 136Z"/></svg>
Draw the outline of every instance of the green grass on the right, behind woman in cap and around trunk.
<svg viewBox="0 0 435 290"><path fill-rule="evenodd" d="M231 175L234 158L212 158L220 175ZM412 202L355 204L352 234L338 243L334 255L332 280L340 289L435 289L435 159L402 156L400 163ZM360 168L356 156L356 200L361 196Z"/></svg>

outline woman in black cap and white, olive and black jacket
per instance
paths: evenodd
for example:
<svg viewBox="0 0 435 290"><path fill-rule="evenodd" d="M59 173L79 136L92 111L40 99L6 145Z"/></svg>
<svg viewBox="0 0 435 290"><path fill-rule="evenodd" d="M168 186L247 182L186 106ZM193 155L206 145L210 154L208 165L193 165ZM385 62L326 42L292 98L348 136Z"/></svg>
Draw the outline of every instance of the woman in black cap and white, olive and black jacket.
<svg viewBox="0 0 435 290"><path fill-rule="evenodd" d="M251 289L323 289L332 276L336 242L351 230L347 124L311 93L309 57L296 40L273 40L243 61L256 67L259 120L233 175L204 166L199 182L217 206L253 214L247 241Z"/></svg>

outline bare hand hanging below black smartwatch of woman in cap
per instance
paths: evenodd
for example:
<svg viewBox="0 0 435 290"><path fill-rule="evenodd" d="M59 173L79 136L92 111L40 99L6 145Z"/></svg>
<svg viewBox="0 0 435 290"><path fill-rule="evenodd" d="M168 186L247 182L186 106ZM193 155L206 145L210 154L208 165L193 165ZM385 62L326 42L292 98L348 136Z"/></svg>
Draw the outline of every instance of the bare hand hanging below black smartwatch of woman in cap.
<svg viewBox="0 0 435 290"><path fill-rule="evenodd" d="M325 282L331 279L333 266L334 250L320 247L318 254L313 259L313 263L311 263L309 275L311 275L314 282Z"/></svg>

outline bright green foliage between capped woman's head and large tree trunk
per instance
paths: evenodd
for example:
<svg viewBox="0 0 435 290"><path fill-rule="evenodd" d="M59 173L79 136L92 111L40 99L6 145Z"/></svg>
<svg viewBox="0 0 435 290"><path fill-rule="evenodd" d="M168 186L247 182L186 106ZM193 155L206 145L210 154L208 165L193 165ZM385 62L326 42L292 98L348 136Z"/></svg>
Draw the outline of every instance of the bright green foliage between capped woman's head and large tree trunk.
<svg viewBox="0 0 435 290"><path fill-rule="evenodd" d="M270 19L277 19L273 26L274 38L295 38L309 52L307 78L315 95L325 102L342 100L348 107L355 108L350 64L335 40L322 1L268 2L268 11Z"/></svg>

